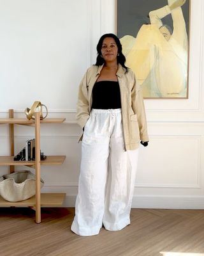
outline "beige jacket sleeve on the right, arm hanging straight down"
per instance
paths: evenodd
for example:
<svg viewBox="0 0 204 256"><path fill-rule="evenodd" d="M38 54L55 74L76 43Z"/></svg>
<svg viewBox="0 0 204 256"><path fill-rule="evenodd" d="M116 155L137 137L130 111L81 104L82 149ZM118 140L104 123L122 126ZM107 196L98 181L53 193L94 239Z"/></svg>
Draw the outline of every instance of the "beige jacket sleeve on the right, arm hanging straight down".
<svg viewBox="0 0 204 256"><path fill-rule="evenodd" d="M149 141L147 134L147 119L145 114L145 106L143 102L141 86L136 84L134 75L134 84L131 92L132 108L138 118L138 125L140 129L140 140Z"/></svg>

